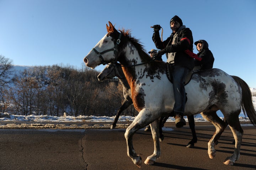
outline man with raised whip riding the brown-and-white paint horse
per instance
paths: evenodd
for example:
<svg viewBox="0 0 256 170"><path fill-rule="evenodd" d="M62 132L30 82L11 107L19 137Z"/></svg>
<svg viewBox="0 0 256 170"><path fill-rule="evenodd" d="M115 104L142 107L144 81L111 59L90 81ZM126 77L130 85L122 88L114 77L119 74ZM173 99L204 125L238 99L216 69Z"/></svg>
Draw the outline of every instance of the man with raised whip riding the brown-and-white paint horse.
<svg viewBox="0 0 256 170"><path fill-rule="evenodd" d="M170 20L172 33L165 41L161 41L159 30L160 25L154 25L152 40L158 51L156 57L166 54L167 62L174 64L172 71L173 89L174 89L174 115L176 127L183 127L186 121L183 118L186 103L185 77L188 72L194 68L194 59L190 57L185 50L193 52L193 36L189 28L183 25L180 17L175 15Z"/></svg>

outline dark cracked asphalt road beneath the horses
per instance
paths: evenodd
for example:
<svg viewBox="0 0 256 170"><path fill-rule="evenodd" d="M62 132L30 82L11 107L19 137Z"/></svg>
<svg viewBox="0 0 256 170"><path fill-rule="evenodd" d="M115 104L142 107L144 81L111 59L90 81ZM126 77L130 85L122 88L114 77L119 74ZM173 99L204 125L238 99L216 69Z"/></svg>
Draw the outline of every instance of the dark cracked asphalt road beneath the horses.
<svg viewBox="0 0 256 170"><path fill-rule="evenodd" d="M161 142L161 157L154 165L138 168L127 156L124 128L109 129L0 129L0 170L255 170L256 127L243 125L241 155L233 166L223 164L234 151L233 135L227 127L210 159L207 143L213 126L196 122L198 142L186 148L191 139L188 126L167 124ZM138 131L134 148L143 162L153 153L150 132Z"/></svg>

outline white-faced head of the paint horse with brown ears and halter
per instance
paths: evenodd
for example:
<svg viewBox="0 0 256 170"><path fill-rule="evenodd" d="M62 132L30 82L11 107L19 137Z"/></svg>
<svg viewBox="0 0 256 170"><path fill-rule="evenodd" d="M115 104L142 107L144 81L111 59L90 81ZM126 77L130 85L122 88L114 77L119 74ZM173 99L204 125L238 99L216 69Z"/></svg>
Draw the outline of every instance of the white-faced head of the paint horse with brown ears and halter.
<svg viewBox="0 0 256 170"><path fill-rule="evenodd" d="M122 33L118 32L111 22L108 23L109 26L106 24L108 33L84 57L87 67L94 69L100 64L105 65L117 60Z"/></svg>

